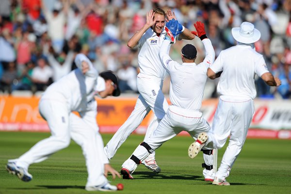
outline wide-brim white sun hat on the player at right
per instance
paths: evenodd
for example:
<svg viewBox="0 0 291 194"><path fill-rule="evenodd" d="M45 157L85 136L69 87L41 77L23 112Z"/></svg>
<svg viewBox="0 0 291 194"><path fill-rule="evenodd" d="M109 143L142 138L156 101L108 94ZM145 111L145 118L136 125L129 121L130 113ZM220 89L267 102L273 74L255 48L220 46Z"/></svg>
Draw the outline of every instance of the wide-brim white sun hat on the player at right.
<svg viewBox="0 0 291 194"><path fill-rule="evenodd" d="M233 38L244 44L257 42L260 38L259 30L250 22L242 22L239 28L232 28L231 33Z"/></svg>

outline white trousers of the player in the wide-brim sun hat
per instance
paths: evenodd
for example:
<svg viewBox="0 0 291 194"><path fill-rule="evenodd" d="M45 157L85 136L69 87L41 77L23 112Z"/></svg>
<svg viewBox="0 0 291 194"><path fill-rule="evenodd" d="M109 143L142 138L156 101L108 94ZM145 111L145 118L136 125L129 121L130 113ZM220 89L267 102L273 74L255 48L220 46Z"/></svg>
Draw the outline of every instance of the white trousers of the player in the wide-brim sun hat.
<svg viewBox="0 0 291 194"><path fill-rule="evenodd" d="M216 177L224 180L229 176L231 167L242 150L254 112L253 99L238 101L234 97L219 98L212 124L217 148L225 145L229 135L230 138Z"/></svg>

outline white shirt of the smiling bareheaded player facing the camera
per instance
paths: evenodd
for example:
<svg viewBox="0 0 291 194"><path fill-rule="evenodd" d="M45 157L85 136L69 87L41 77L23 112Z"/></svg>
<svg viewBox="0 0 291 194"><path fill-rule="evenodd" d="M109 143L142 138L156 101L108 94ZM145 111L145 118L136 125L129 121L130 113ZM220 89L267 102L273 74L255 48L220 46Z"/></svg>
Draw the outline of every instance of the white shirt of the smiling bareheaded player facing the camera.
<svg viewBox="0 0 291 194"><path fill-rule="evenodd" d="M160 36L158 36L156 32L149 28L139 40L138 47L140 51L138 54L138 65L140 73L143 74L144 77L149 75L164 79L166 71L159 57L159 50L162 46L164 37L164 30Z"/></svg>

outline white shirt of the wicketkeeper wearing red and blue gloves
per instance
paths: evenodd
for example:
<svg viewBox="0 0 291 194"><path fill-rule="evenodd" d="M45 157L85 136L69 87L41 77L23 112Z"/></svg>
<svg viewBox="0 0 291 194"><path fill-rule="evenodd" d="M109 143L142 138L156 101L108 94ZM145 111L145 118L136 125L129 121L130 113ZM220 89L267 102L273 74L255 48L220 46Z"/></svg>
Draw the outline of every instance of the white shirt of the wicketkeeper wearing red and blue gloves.
<svg viewBox="0 0 291 194"><path fill-rule="evenodd" d="M160 57L164 68L171 76L170 100L175 106L191 111L200 111L207 80L207 69L214 61L215 52L208 38L202 40L206 56L200 64L173 61L167 54L169 40L164 40Z"/></svg>

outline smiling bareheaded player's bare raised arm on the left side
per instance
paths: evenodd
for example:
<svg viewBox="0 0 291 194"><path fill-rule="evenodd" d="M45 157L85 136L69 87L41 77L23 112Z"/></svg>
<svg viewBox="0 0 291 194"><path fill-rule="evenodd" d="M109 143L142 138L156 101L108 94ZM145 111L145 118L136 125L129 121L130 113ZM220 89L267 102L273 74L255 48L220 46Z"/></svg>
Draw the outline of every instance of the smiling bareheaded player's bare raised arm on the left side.
<svg viewBox="0 0 291 194"><path fill-rule="evenodd" d="M156 19L154 19L154 11L150 10L146 13L146 24L143 26L141 30L136 32L128 41L128 47L134 48L136 45L138 45L138 41L141 39L142 35L156 23Z"/></svg>

